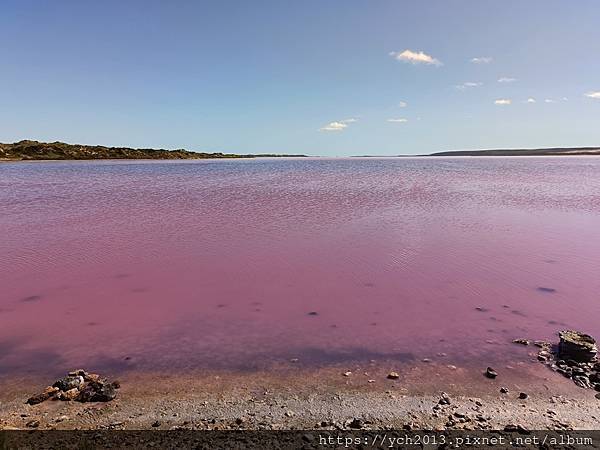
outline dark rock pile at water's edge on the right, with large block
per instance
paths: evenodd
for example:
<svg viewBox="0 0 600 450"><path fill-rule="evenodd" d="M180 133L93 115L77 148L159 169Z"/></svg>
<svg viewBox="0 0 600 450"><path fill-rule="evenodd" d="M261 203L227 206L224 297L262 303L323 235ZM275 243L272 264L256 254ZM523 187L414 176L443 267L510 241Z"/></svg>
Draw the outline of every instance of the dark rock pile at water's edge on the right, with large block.
<svg viewBox="0 0 600 450"><path fill-rule="evenodd" d="M545 341L534 342L540 348L537 354L538 361L570 378L581 388L600 391L600 362L597 359L596 340L588 334L574 330L563 330L558 335L558 346ZM515 339L513 342L529 343L526 339Z"/></svg>

